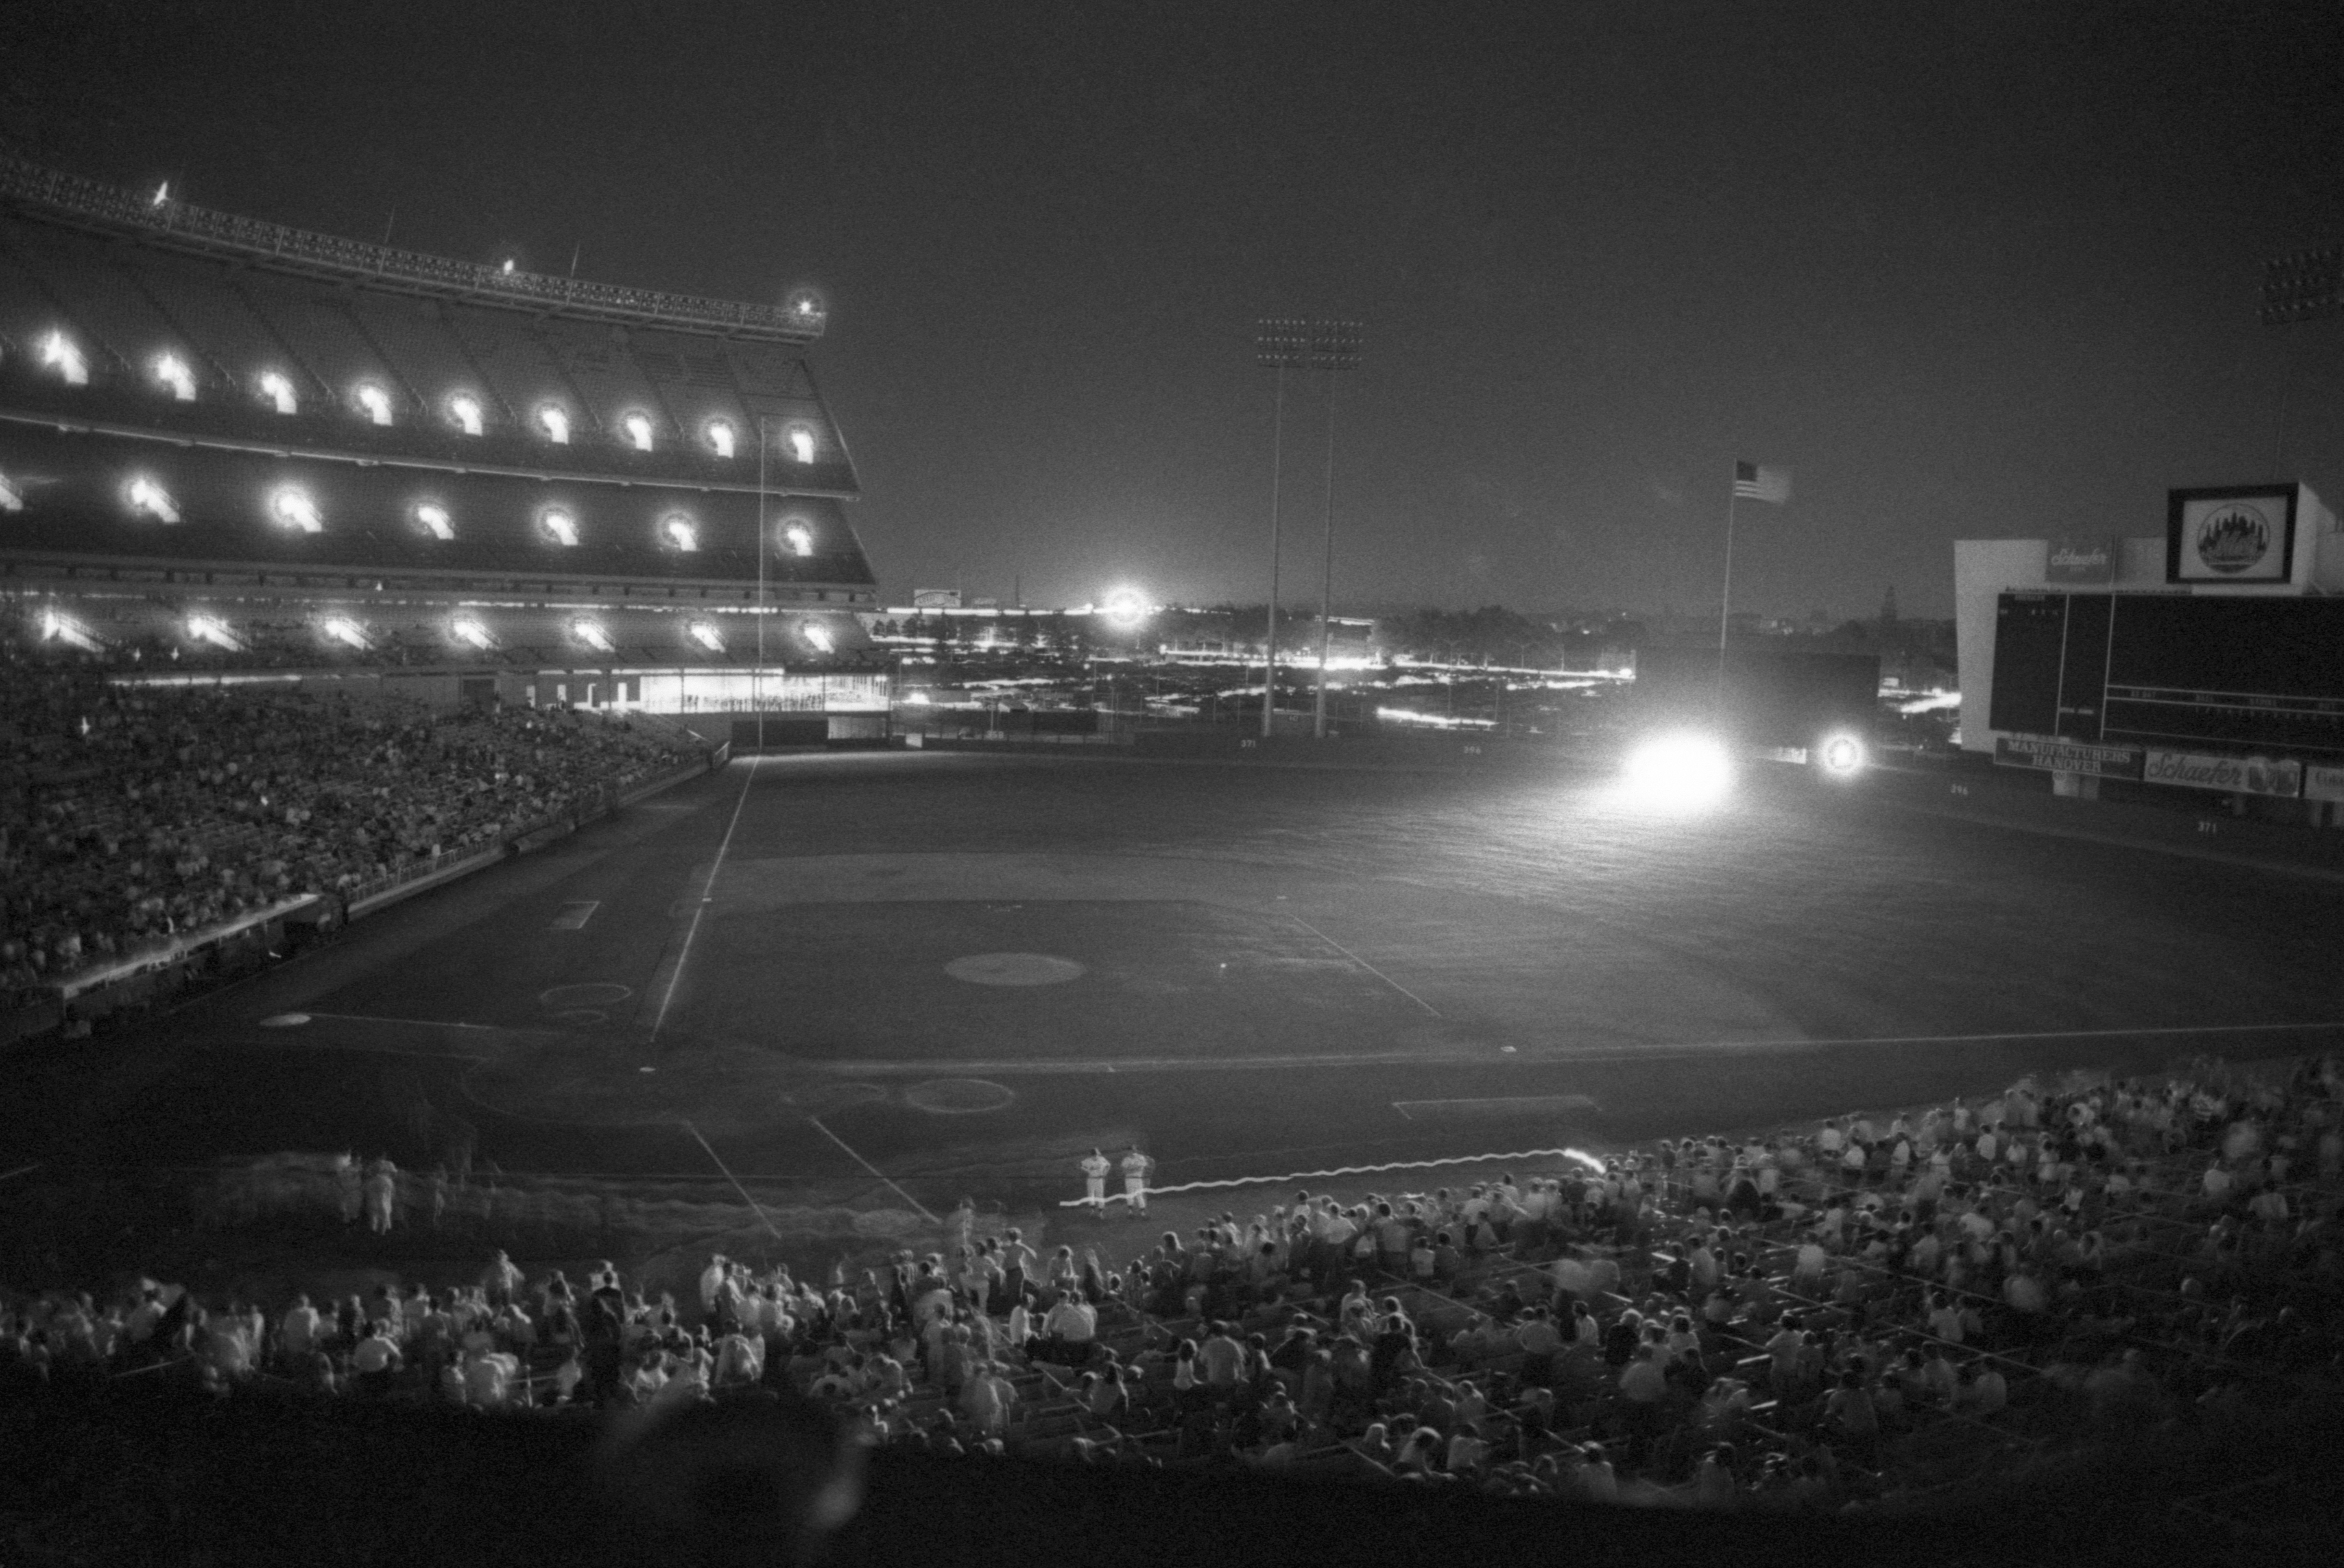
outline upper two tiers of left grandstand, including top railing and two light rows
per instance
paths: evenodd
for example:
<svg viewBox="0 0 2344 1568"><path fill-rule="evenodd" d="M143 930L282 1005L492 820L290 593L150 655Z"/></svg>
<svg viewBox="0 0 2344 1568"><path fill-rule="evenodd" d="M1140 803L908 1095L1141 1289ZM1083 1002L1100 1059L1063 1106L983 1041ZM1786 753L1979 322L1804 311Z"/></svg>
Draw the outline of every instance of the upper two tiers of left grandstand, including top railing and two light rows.
<svg viewBox="0 0 2344 1568"><path fill-rule="evenodd" d="M0 574L874 602L820 328L0 159Z"/></svg>

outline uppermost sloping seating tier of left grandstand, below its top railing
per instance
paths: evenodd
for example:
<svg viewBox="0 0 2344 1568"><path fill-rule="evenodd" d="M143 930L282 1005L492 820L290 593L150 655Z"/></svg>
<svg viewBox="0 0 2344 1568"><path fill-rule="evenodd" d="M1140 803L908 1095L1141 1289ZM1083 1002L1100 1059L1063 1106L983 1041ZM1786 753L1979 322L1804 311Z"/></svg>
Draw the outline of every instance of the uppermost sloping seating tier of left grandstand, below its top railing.
<svg viewBox="0 0 2344 1568"><path fill-rule="evenodd" d="M785 345L675 326L616 328L246 265L223 270L218 260L136 244L138 234L96 237L26 218L19 211L0 220L0 363L23 373L9 401L28 410L164 417L152 361L173 352L197 377L197 401L166 417L190 434L748 488L752 464L717 457L706 429L727 420L748 455L766 417L776 431L802 424L816 438L813 462L774 469L781 483L853 490L820 394ZM70 398L35 373L52 330L89 359L91 387ZM295 382L300 415L279 415L260 398L267 370ZM366 382L391 396L391 431L373 429L356 408ZM103 398L108 384L113 403ZM481 438L455 434L448 401L457 391L483 403ZM567 413L567 445L544 438L537 410L546 403ZM638 410L656 424L652 452L626 438L624 417Z"/></svg>

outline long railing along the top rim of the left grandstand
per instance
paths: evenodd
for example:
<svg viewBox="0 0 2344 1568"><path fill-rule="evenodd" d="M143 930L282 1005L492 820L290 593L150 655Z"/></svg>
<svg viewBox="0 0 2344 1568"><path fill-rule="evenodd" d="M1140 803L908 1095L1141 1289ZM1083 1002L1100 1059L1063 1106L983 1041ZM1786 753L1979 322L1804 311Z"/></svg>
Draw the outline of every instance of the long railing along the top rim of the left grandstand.
<svg viewBox="0 0 2344 1568"><path fill-rule="evenodd" d="M481 263L401 251L295 230L284 223L239 218L190 202L141 197L120 185L61 169L45 169L0 152L0 202L40 209L54 218L136 232L150 244L204 255L237 255L274 272L298 272L335 281L366 279L401 293L431 293L516 309L548 309L598 321L640 321L684 330L720 330L741 338L806 345L823 335L820 307L750 305L706 300L659 288L591 284L541 272L506 272Z"/></svg>

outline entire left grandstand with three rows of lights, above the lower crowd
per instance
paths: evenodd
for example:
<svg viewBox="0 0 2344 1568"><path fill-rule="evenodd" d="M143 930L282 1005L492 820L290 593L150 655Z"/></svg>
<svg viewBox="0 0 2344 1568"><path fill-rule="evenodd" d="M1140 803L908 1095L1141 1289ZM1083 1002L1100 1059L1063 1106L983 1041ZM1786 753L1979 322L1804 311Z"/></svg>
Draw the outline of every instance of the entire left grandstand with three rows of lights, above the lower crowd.
<svg viewBox="0 0 2344 1568"><path fill-rule="evenodd" d="M818 312L492 272L0 157L0 654L326 689L396 673L445 703L488 673L504 701L820 708L790 682L877 663L846 609L877 593L799 359L818 333ZM649 450L628 415L652 420ZM771 680L736 689L759 602ZM839 701L867 715L884 694Z"/></svg>

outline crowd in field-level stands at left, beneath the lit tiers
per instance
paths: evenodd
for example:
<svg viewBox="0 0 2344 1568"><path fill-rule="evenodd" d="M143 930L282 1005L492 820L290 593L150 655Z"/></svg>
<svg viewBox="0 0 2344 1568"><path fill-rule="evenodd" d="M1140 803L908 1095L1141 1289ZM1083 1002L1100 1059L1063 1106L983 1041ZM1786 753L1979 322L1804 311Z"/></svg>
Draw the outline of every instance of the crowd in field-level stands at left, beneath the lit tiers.
<svg viewBox="0 0 2344 1568"><path fill-rule="evenodd" d="M481 848L689 757L570 710L0 682L0 998Z"/></svg>

